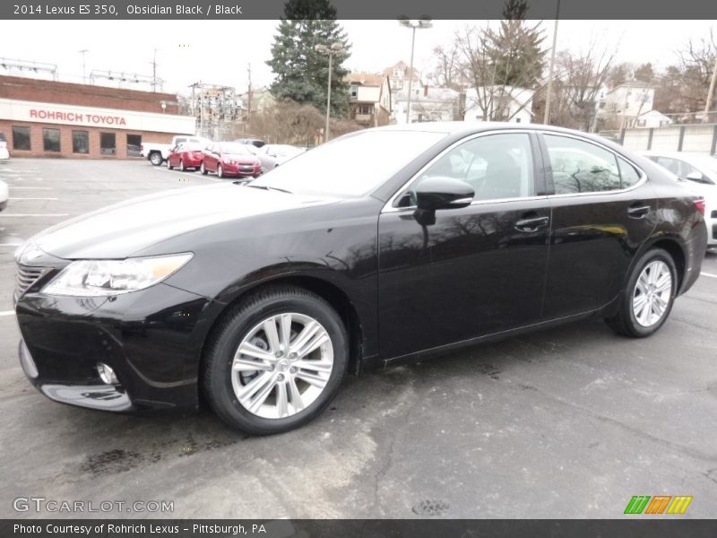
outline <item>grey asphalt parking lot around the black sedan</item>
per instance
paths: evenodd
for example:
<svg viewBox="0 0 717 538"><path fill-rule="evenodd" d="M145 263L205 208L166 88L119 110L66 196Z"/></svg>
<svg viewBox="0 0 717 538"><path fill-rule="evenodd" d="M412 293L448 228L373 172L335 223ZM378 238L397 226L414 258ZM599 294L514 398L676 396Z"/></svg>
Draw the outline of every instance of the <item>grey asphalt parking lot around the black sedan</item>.
<svg viewBox="0 0 717 538"><path fill-rule="evenodd" d="M38 516L16 512L18 497L174 502L173 513L109 513L133 517L618 518L634 495L687 495L678 517L715 514L717 255L651 338L594 321L348 377L307 427L252 438L206 410L55 404L17 361L22 240L219 179L146 161L31 159L0 164L0 179L11 195L0 213L0 517Z"/></svg>

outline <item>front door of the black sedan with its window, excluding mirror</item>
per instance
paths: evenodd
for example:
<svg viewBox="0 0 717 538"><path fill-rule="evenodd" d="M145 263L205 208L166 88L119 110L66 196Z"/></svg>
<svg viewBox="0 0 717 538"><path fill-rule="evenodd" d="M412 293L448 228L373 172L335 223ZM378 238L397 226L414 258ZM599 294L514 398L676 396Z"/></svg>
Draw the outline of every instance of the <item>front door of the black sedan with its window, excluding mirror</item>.
<svg viewBox="0 0 717 538"><path fill-rule="evenodd" d="M493 132L455 143L386 204L378 224L384 358L540 320L550 208L535 134ZM427 178L465 181L461 209L416 211Z"/></svg>

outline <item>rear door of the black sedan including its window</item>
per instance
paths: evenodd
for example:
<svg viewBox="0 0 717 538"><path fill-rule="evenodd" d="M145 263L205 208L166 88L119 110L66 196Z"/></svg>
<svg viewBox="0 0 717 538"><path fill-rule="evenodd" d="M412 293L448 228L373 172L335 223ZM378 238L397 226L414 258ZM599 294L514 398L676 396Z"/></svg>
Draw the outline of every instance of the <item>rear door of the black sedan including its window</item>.
<svg viewBox="0 0 717 538"><path fill-rule="evenodd" d="M582 137L543 133L552 205L546 319L615 299L636 250L652 234L657 200L644 172Z"/></svg>

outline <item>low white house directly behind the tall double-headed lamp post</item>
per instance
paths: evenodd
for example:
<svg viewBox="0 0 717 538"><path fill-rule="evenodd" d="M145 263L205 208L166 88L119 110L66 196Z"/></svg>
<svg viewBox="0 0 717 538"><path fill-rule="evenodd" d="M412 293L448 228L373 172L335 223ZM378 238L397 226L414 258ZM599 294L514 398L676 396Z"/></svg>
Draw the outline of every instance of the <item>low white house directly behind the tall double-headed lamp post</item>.
<svg viewBox="0 0 717 538"><path fill-rule="evenodd" d="M394 96L394 103L393 119L395 123L405 124L408 109L408 87ZM458 91L427 84L411 87L409 123L454 121L455 119L460 119Z"/></svg>

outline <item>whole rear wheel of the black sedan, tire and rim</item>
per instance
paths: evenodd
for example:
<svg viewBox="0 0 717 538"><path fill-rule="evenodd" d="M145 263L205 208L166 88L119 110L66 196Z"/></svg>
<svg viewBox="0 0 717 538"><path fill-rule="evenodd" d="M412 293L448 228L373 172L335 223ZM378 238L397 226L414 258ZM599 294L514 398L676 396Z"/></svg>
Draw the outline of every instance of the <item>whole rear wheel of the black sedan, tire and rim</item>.
<svg viewBox="0 0 717 538"><path fill-rule="evenodd" d="M678 271L672 256L661 248L652 248L635 263L622 292L618 313L606 317L605 323L623 336L649 336L669 317L677 290ZM639 304L635 304L638 300ZM640 308L642 304L644 307Z"/></svg>

